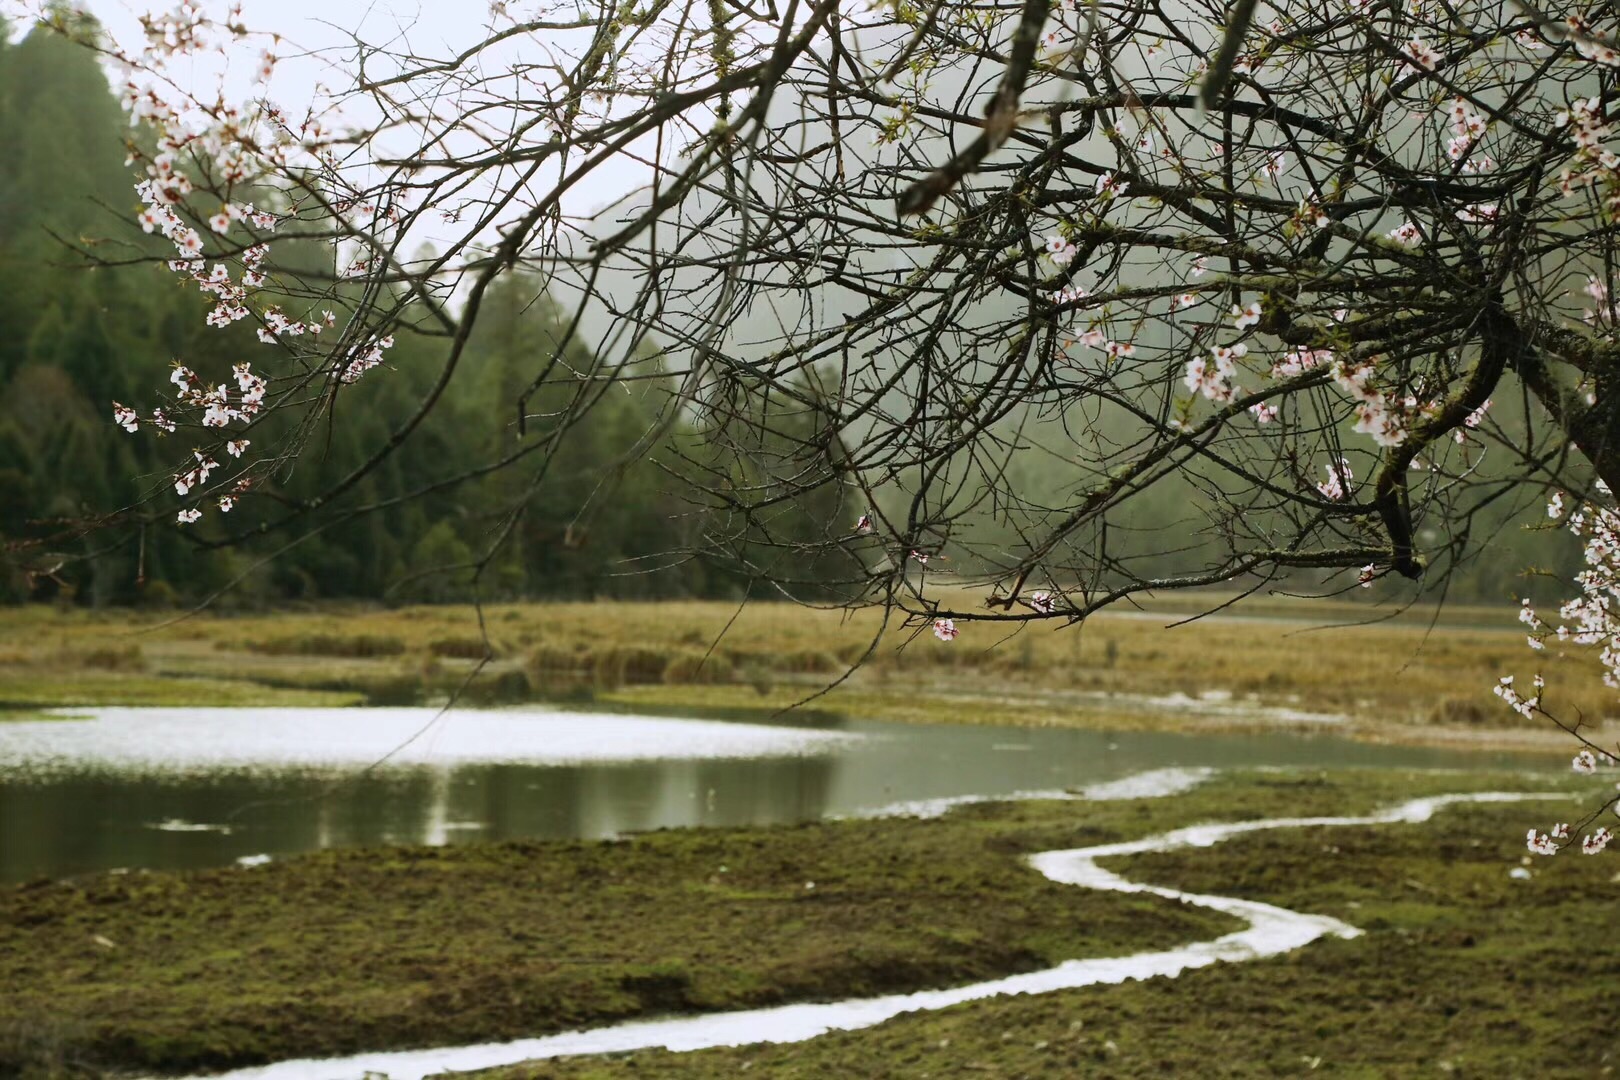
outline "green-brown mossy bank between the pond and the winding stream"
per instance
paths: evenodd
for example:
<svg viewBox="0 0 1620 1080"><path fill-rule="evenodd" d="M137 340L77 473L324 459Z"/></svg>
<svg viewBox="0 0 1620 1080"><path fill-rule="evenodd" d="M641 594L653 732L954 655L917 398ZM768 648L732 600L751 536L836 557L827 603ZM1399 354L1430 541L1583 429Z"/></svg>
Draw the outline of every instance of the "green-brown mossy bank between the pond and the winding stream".
<svg viewBox="0 0 1620 1080"><path fill-rule="evenodd" d="M1056 886L1021 857L1189 821L1362 813L1414 793L1545 784L1534 774L1257 772L1221 776L1174 798L975 805L935 821L340 850L253 870L6 887L0 1075L178 1072L509 1040L646 1014L949 986L1071 957L1160 949L1233 923L1157 897ZM1371 866L1372 855L1324 866L1372 874L1356 897L1393 889L1388 902L1416 899L1429 905L1426 918L1460 928L1468 913L1447 915L1448 895L1492 874L1505 881L1513 837L1526 819L1547 814L1518 806L1453 813L1440 832L1390 827L1401 842L1421 836L1445 839L1447 853L1464 850L1473 863L1458 876L1439 861L1418 865L1418 847L1393 871ZM1322 848L1309 834L1278 840L1302 852L1298 863ZM1385 842L1383 831L1335 840L1348 852ZM1228 884L1220 868L1230 850L1241 848L1202 853L1215 868L1210 891ZM1536 895L1562 897L1565 863L1578 860L1549 865L1550 876L1533 882ZM1231 863L1233 887L1243 889L1256 866L1247 857ZM1302 879L1320 881L1320 891L1343 889L1327 870L1312 873ZM1398 884L1411 876L1419 886ZM1281 878L1267 871L1264 881ZM1495 904L1515 894L1481 897ZM1315 899L1288 895L1304 907ZM1343 904L1335 913L1377 933L1406 925ZM1346 1007L1353 997L1346 991ZM938 1022L946 1027L932 1038L957 1038L959 1017ZM849 1044L847 1052L863 1051ZM888 1052L868 1064L899 1070L875 1075L919 1075L901 1069L909 1057ZM846 1074L820 1054L818 1041L781 1061L825 1064L792 1075L868 1075ZM708 1072L671 1067L714 1077L732 1075L742 1061L711 1062ZM614 1072L630 1069L624 1062L578 1065L596 1067L630 1075Z"/></svg>

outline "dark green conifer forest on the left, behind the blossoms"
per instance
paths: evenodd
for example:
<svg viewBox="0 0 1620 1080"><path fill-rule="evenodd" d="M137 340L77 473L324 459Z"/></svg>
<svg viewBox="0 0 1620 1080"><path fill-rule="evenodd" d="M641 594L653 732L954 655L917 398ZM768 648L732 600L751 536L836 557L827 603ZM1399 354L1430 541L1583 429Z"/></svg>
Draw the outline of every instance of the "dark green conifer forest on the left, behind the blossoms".
<svg viewBox="0 0 1620 1080"><path fill-rule="evenodd" d="M760 568L786 559L795 563L787 576L804 578L815 599L826 596L816 581L859 573L852 559L799 559L802 541L847 534L857 512L828 499L828 487L804 497L779 489L816 465L773 455L771 431L795 423L774 402L757 410L770 424L729 434L758 452L752 473L727 466L739 502L768 504L758 513L685 499L685 470L719 466L713 432L700 432L695 416L682 416L648 460L614 468L667 400L656 381L601 393L578 377L554 379L526 410L536 452L476 476L520 447L512 403L557 353L561 313L520 275L484 298L478 334L423 429L330 513L314 520L284 507L386 442L437 377L442 340L400 334L389 369L335 400L342 423L303 432L316 453L258 486L228 518L177 526L168 476L206 432L126 434L112 403L164 405L175 363L215 381L241 359L264 369L266 347L251 321L225 332L204 325L209 300L173 274L94 266L162 248L133 223L138 176L122 147L143 133L92 53L45 31L0 34L0 133L11 147L0 157L0 597L170 604L235 583L220 602L460 599L473 594L467 567L504 533L478 575L484 597L742 596ZM296 248L279 244L275 257L296 259ZM577 343L562 359L561 371L591 366ZM551 452L548 419L577 395L593 402L590 411ZM253 432L259 445L293 436ZM109 513L120 513L109 528L86 528ZM271 526L262 538L212 544L259 523Z"/></svg>

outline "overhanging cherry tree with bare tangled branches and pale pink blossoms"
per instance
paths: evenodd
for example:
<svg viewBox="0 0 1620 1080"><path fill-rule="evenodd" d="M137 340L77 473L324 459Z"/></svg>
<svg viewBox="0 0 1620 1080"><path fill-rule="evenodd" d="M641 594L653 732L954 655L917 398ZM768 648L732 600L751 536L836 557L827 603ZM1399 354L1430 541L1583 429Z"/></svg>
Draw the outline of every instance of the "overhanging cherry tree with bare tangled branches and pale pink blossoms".
<svg viewBox="0 0 1620 1080"><path fill-rule="evenodd" d="M481 471L533 491L603 395L659 381L598 502L695 423L716 455L671 484L734 523L706 546L776 542L789 596L810 547L941 641L1290 575L1422 588L1529 492L1588 560L1531 643L1604 648L1615 680L1617 34L1609 5L1492 0L494 3L458 52L356 36L293 104L288 42L181 3L89 44L128 84L134 227L262 350L112 419L183 432L143 513L228 544L220 515L363 408L400 335L436 342L411 418L262 526L293 538L352 510L528 274L596 361L535 356ZM256 87L188 84L204 53ZM1061 483L1021 484L1029 460ZM807 491L849 517L773 541Z"/></svg>

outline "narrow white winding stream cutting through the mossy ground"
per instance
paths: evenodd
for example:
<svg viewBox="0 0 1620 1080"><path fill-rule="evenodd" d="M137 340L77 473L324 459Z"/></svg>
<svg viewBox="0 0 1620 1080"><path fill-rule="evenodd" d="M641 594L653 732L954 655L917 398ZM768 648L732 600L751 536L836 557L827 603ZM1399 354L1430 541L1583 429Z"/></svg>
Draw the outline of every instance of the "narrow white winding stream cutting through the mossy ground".
<svg viewBox="0 0 1620 1080"><path fill-rule="evenodd" d="M1299 949L1319 938L1356 938L1361 931L1336 918L1290 912L1288 908L1257 900L1204 895L1139 884L1103 870L1097 865L1097 860L1116 855L1168 852L1184 847L1210 847L1230 837L1260 829L1418 824L1432 818L1435 811L1456 803L1507 803L1526 798L1565 797L1503 792L1437 795L1414 798L1359 818L1270 818L1262 821L1200 824L1144 840L1040 852L1030 857L1030 865L1035 870L1061 884L1111 892L1150 892L1225 912L1247 923L1247 928L1231 934L1176 949L1139 952L1128 957L1068 960L1043 972L1011 975L1008 978L951 989L888 994L857 1001L776 1006L771 1009L747 1009L664 1020L638 1020L588 1031L565 1031L510 1043L285 1061L274 1065L241 1069L224 1074L224 1077L230 1080L363 1080L368 1074L381 1074L389 1077L389 1080L416 1080L441 1072L492 1069L522 1061L570 1054L606 1054L651 1048L695 1051L711 1046L742 1046L748 1043L799 1043L828 1031L867 1028L904 1012L946 1009L961 1002L1000 994L1047 994L1058 989L1115 984L1134 978L1153 978L1157 975L1174 976L1191 968L1207 967L1217 960L1239 962L1273 957L1291 949Z"/></svg>

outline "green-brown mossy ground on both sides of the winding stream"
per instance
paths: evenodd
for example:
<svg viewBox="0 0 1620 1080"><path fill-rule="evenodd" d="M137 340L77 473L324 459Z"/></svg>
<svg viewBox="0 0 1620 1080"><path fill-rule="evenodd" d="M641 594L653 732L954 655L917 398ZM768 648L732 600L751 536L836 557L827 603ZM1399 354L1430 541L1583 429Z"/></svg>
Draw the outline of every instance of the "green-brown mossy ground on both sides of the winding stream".
<svg viewBox="0 0 1620 1080"><path fill-rule="evenodd" d="M936 821L340 850L253 870L10 887L0 891L0 1075L212 1069L505 1040L648 1014L949 986L1158 949L1233 923L1153 897L1055 886L1019 857L1191 821L1362 813L1418 793L1549 782L1273 772L1218 777L1174 798L975 805ZM1550 959L1515 968L1520 954L1565 957L1578 962L1576 975L1604 962L1620 970L1620 957L1604 955L1614 946L1602 934L1583 934L1609 913L1612 860L1565 857L1539 866L1533 882L1507 878L1524 823L1550 816L1534 805L1455 810L1435 826L1264 834L1131 865L1134 876L1186 878L1341 915L1371 931L1358 942L1162 986L985 1002L797 1048L637 1054L533 1075L718 1077L750 1061L766 1075L804 1077L978 1075L967 1069L975 1062L1000 1070L991 1075L1056 1075L1071 1061L1166 1075L1162 1069L1199 1061L1191 1030L1158 1031L1155 1010L1233 1048L1243 1025L1280 1025L1299 1040L1298 1052L1265 1049L1254 1061L1293 1069L1306 1054L1349 1061L1341 1025L1400 1028L1395 1015L1369 1020L1369 1002L1409 994L1430 1002L1416 1006L1429 1015L1453 1001L1452 988L1531 996L1531 1020L1502 1014L1481 1023L1552 1038L1534 1017L1550 1010L1576 1022L1563 1009L1578 988L1555 976ZM1325 855L1328 847L1338 853ZM1249 989L1234 994L1231 980ZM1418 981L1403 989L1408 980ZM1597 1004L1594 993L1584 986L1586 1006ZM1192 1020L1189 1002L1200 1002ZM1076 1018L1085 1027L1071 1031ZM1174 1028L1168 1017L1163 1025ZM1256 1046L1288 1044L1278 1035ZM1422 1052L1432 1070L1435 1054Z"/></svg>

